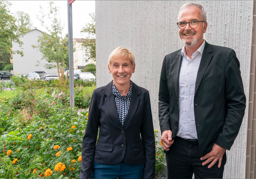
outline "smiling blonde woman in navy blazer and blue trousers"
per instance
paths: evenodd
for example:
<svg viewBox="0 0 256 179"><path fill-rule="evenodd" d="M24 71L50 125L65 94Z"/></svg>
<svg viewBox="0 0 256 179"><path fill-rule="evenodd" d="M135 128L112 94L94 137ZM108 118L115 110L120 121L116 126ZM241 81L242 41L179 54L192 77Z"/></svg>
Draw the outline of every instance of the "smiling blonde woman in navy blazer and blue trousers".
<svg viewBox="0 0 256 179"><path fill-rule="evenodd" d="M113 80L91 96L80 178L154 178L150 98L146 89L130 81L134 55L116 48L109 56L108 69Z"/></svg>

